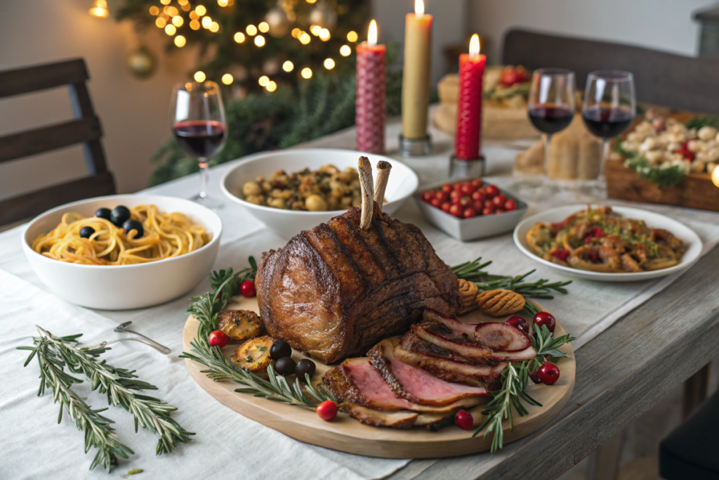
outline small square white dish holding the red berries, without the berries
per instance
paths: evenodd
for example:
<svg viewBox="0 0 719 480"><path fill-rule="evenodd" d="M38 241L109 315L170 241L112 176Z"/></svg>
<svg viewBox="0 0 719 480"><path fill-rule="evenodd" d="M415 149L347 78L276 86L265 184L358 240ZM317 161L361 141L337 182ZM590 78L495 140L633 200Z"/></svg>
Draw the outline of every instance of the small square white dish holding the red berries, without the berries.
<svg viewBox="0 0 719 480"><path fill-rule="evenodd" d="M444 181L439 184L429 185L422 191L434 190L444 184L455 184L459 181L472 180L473 178L452 178L450 181ZM487 183L483 183L487 186ZM499 187L498 187L499 188ZM491 215L478 215L472 218L457 218L447 212L443 212L437 207L433 207L426 201L421 199L421 193L417 192L414 196L419 209L424 217L435 227L442 230L447 235L456 238L461 242L469 242L470 240L478 240L480 238L493 237L500 233L510 232L527 211L527 204L518 199L515 194L511 194L504 189L499 189L500 194L504 194L508 200L517 202L517 208L510 212L503 212Z"/></svg>

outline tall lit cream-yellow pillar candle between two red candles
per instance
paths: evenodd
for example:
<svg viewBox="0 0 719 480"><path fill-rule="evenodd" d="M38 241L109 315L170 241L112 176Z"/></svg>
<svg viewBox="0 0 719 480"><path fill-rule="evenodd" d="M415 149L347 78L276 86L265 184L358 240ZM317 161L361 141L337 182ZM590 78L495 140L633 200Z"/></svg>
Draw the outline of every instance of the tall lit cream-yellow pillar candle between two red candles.
<svg viewBox="0 0 719 480"><path fill-rule="evenodd" d="M414 10L405 20L402 78L402 136L409 139L427 136L431 68L432 16L424 14L422 0L415 0Z"/></svg>

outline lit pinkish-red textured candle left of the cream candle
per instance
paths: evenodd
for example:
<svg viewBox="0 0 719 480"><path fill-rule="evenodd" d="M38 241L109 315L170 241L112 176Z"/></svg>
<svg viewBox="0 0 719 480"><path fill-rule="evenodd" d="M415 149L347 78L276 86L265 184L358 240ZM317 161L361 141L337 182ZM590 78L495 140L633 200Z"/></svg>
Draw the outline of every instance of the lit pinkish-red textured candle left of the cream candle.
<svg viewBox="0 0 719 480"><path fill-rule="evenodd" d="M377 45L377 22L370 22L367 42L357 45L357 150L385 153L385 45Z"/></svg>

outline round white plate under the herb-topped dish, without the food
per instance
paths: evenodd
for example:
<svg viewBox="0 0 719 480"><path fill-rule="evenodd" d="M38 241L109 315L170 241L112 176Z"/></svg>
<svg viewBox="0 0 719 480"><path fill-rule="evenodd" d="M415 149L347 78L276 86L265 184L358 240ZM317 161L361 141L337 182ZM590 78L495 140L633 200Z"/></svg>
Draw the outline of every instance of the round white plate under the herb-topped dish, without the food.
<svg viewBox="0 0 719 480"><path fill-rule="evenodd" d="M552 263L550 261L544 260L544 258L535 255L531 252L531 250L529 250L526 236L529 229L531 229L531 227L533 227L536 222L561 222L574 212L579 212L580 210L585 209L587 209L587 205L567 205L566 207L549 209L544 212L534 214L526 219L523 219L522 222L514 229L514 243L517 245L519 250L522 250L522 252L532 260L543 263L544 265L554 268L555 270L562 271L562 273L568 276L573 276L577 279L612 282L658 279L659 277L667 276L671 273L684 271L687 268L690 268L690 266L694 265L694 263L699 259L700 255L702 254L702 240L700 239L699 235L697 235L695 231L692 230L690 227L687 227L683 223L677 222L677 220L665 217L664 215L630 207L612 207L612 209L614 212L617 212L622 217L644 220L648 227L663 228L664 230L669 230L669 232L672 232L675 237L682 240L684 242L684 245L687 245L687 251L684 253L684 256L682 256L682 261L679 262L679 265L664 268L662 270L637 273L600 273L579 270L577 268L569 268L563 265L557 265L557 263Z"/></svg>

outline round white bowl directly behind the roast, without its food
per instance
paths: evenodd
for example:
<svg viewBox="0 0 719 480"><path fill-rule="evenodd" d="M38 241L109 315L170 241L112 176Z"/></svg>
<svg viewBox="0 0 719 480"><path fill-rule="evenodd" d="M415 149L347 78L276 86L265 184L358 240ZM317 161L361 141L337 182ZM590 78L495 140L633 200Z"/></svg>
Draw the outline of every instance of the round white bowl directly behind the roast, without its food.
<svg viewBox="0 0 719 480"><path fill-rule="evenodd" d="M229 199L242 205L247 212L267 225L270 230L289 239L302 230L310 230L321 223L326 223L332 217L341 215L345 211L305 212L303 210L283 210L252 204L242 199L242 186L245 182L255 180L258 176L270 178L278 170L284 170L287 173L301 171L303 168L316 170L328 163L340 170L344 170L345 167L357 168L357 160L359 160L360 155L365 155L370 159L372 176L375 179L377 178L376 166L379 160L385 160L392 164L390 179L385 190L387 202L383 206L383 211L390 215L393 214L417 189L419 184L417 175L399 160L393 160L383 155L373 155L372 153L334 148L305 148L259 153L244 158L232 170L226 172L220 185Z"/></svg>

